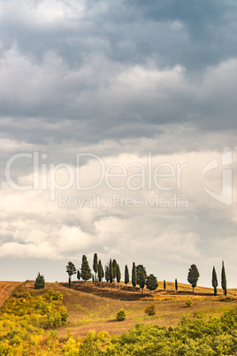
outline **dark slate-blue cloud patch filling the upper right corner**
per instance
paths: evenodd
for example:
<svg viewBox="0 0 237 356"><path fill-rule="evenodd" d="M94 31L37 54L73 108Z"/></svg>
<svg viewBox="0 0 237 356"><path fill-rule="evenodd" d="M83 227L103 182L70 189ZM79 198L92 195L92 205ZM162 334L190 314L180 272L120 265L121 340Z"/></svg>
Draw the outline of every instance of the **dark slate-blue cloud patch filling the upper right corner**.
<svg viewBox="0 0 237 356"><path fill-rule="evenodd" d="M183 24L180 38L179 31L173 31L172 39L168 37L165 40L167 32L164 34L163 43L168 40L166 52L164 44L161 48L157 47L168 65L180 63L195 70L236 57L237 4L233 1L132 0L126 4L135 10L140 9L144 19L156 23L179 21Z"/></svg>

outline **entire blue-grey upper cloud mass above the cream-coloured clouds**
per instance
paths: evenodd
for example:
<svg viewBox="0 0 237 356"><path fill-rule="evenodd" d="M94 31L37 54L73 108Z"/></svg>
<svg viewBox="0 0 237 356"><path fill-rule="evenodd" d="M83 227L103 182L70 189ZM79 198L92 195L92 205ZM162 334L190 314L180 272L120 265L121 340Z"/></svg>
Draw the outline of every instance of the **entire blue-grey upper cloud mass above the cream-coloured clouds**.
<svg viewBox="0 0 237 356"><path fill-rule="evenodd" d="M236 66L221 65L236 57L236 4L83 4L2 2L1 115L18 121L4 121L4 136L93 142L166 123L236 127Z"/></svg>

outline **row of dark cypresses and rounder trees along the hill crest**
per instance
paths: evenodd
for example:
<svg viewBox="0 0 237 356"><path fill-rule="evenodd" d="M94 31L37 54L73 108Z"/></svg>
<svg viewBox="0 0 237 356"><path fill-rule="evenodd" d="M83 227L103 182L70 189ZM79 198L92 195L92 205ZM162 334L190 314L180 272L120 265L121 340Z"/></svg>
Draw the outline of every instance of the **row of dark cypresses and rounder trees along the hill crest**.
<svg viewBox="0 0 237 356"><path fill-rule="evenodd" d="M120 290L120 282L121 282L121 271L119 267L119 263L116 261L116 259L110 259L110 261L103 267L101 259L98 260L97 253L94 253L94 259L93 259L93 271L94 274L91 272L91 268L89 267L88 264L88 259L86 255L82 256L82 262L81 262L81 267L80 269L77 269L73 262L68 262L66 266L66 272L68 274L68 284L69 287L71 287L71 280L72 280L72 275L77 275L77 279L80 281L82 279L85 281L85 284L87 285L88 280L92 279L94 283L99 283L101 287L101 283L103 282L103 278L107 282L108 288L109 285L111 288L114 285L115 280L119 283L119 290ZM191 265L189 267L188 273L187 273L187 282L191 284L193 291L195 290L195 287L197 285L197 281L199 278L200 274L198 271L198 268L195 266L195 264ZM129 275L129 270L127 265L125 266L125 272L124 272L124 282L126 284L126 291L127 291L127 284L130 282L130 275ZM141 293L143 293L143 289L146 286L148 290L150 290L150 293L152 290L157 290L158 287L158 282L157 282L157 277L155 275L147 275L146 268L143 265L135 265L133 263L132 267L132 275L131 275L131 282L134 287L134 292L135 292L135 287L139 285L141 289ZM217 295L217 287L218 287L218 277L216 273L215 267L212 269L212 287L214 289L214 295ZM110 284L109 284L110 283ZM175 290L178 290L178 281L175 279ZM166 282L164 280L164 290L166 289ZM224 266L224 261L222 261L222 270L221 270L221 287L223 290L223 293L227 294L227 287L226 287L226 270Z"/></svg>

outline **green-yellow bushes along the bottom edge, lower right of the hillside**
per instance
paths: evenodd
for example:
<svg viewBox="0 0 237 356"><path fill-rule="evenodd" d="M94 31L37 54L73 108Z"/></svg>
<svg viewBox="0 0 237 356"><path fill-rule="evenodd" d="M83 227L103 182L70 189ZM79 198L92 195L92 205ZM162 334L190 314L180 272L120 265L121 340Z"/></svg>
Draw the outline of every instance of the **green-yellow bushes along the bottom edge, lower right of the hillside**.
<svg viewBox="0 0 237 356"><path fill-rule="evenodd" d="M178 327L137 324L121 337L90 331L79 346L80 356L230 356L237 351L237 307L206 321L196 313Z"/></svg>

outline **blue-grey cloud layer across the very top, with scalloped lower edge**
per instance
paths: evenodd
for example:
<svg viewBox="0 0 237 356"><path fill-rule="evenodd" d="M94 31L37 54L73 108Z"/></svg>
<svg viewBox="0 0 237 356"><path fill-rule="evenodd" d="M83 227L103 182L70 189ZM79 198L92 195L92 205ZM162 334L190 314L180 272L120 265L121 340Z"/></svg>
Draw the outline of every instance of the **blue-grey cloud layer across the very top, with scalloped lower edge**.
<svg viewBox="0 0 237 356"><path fill-rule="evenodd" d="M129 64L155 58L158 66L180 64L195 70L236 56L236 6L214 0L88 1L83 16L52 25L34 24L23 11L22 16L12 14L9 6L1 37L4 48L17 42L36 60L55 50L69 66L103 53Z"/></svg>

